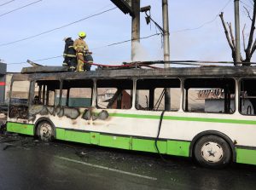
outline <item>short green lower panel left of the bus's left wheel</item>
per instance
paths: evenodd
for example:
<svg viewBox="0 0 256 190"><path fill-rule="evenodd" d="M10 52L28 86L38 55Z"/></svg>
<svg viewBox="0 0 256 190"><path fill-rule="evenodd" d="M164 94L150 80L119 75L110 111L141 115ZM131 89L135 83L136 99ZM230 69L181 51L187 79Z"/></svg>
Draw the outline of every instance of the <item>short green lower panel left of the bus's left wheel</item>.
<svg viewBox="0 0 256 190"><path fill-rule="evenodd" d="M7 131L20 133L24 135L34 135L34 125L33 124L17 124L17 123L7 123Z"/></svg>

